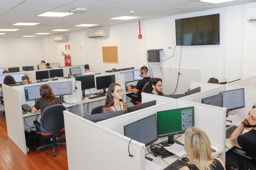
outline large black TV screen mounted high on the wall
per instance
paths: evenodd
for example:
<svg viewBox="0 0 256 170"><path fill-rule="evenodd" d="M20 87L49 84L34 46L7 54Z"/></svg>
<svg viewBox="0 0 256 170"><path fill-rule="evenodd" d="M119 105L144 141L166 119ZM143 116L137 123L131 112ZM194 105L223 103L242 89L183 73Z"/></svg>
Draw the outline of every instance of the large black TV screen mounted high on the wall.
<svg viewBox="0 0 256 170"><path fill-rule="evenodd" d="M220 14L176 19L176 45L220 44Z"/></svg>

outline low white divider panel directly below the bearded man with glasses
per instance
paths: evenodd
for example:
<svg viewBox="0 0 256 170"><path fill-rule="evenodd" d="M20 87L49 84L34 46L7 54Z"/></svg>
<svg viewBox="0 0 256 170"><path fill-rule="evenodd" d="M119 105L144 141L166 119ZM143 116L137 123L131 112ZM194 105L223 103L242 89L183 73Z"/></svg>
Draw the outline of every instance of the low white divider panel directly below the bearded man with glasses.
<svg viewBox="0 0 256 170"><path fill-rule="evenodd" d="M167 101L176 100L170 97L164 97L164 96L158 96L155 94L149 94L149 93L141 93L141 102L145 103L148 101L156 100L156 104L161 104Z"/></svg>

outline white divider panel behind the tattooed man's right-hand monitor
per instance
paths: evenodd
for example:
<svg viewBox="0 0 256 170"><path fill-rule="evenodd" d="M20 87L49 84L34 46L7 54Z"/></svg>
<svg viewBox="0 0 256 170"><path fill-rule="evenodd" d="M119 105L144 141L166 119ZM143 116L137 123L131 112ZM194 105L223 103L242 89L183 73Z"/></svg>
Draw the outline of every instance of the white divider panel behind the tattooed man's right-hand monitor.
<svg viewBox="0 0 256 170"><path fill-rule="evenodd" d="M239 87L239 86L231 86L225 85L225 91L235 90L244 88L244 105L245 107L235 109L230 111L230 115L241 115L242 117L246 117L250 110L252 110L252 106L256 103L256 88L249 87Z"/></svg>

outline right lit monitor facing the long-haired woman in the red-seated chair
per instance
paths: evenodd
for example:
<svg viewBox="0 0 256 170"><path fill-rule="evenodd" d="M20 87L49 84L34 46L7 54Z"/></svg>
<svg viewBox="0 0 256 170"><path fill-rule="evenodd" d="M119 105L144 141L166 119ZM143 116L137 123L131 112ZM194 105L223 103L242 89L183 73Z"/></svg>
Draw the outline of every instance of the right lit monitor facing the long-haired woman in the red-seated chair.
<svg viewBox="0 0 256 170"><path fill-rule="evenodd" d="M63 102L63 95L72 94L71 81L48 83L52 88L52 92L55 96L60 95L60 100Z"/></svg>

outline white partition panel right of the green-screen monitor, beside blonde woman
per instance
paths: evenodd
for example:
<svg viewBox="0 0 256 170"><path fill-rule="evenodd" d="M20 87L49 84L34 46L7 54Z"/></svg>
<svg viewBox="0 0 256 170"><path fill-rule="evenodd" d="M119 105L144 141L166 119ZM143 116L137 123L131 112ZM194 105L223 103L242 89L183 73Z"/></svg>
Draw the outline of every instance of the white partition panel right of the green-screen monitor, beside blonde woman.
<svg viewBox="0 0 256 170"><path fill-rule="evenodd" d="M204 130L211 144L220 148L220 158L225 162L226 108L178 100L178 108L195 107L195 126Z"/></svg>

